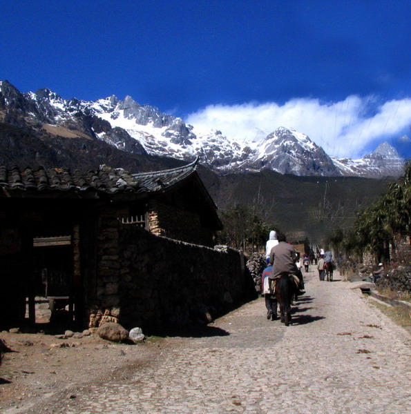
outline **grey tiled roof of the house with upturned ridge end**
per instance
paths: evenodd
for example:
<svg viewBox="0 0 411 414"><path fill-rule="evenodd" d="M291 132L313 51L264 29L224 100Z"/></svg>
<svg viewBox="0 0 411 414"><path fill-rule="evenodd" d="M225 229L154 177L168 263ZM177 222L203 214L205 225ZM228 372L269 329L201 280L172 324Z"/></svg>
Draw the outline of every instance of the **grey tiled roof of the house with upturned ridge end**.
<svg viewBox="0 0 411 414"><path fill-rule="evenodd" d="M98 170L70 172L67 168L42 168L32 170L27 167L7 169L0 166L0 188L12 191L30 191L34 193L49 191L97 191L97 193L153 193L171 188L189 177L198 162L171 170L141 172L130 174L122 168L100 167ZM11 192L11 193L10 193Z"/></svg>

